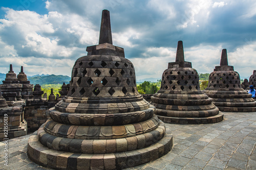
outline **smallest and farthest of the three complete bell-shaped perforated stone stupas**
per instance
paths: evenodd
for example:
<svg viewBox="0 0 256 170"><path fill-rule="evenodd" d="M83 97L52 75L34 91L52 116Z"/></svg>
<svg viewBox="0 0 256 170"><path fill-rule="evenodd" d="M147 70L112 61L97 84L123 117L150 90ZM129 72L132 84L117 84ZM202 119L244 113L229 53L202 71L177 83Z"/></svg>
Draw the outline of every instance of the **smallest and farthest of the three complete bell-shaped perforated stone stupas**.
<svg viewBox="0 0 256 170"><path fill-rule="evenodd" d="M211 72L204 92L221 111L256 111L256 102L251 98L251 94L242 88L238 72L228 65L226 49L222 50L220 66L216 66Z"/></svg>

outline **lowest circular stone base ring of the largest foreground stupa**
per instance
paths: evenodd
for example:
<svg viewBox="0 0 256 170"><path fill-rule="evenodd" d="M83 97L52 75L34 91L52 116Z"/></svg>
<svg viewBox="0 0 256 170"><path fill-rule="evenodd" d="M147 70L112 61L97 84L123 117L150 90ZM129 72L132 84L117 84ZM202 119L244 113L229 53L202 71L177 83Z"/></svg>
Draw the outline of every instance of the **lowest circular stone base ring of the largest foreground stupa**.
<svg viewBox="0 0 256 170"><path fill-rule="evenodd" d="M123 169L154 161L167 154L172 146L173 136L169 129L161 140L149 147L108 154L56 151L42 145L34 133L28 141L28 156L35 163L54 169Z"/></svg>

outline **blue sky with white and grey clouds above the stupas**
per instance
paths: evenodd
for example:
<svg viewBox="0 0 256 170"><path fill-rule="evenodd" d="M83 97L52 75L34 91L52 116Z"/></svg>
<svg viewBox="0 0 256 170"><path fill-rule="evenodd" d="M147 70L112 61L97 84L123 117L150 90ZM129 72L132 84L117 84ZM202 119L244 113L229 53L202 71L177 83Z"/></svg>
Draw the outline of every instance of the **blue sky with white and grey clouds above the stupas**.
<svg viewBox="0 0 256 170"><path fill-rule="evenodd" d="M0 72L20 66L28 76L71 76L86 47L98 44L103 9L110 11L113 45L124 48L136 78L161 78L179 40L199 73L228 63L241 78L256 69L255 0L13 0L0 1Z"/></svg>

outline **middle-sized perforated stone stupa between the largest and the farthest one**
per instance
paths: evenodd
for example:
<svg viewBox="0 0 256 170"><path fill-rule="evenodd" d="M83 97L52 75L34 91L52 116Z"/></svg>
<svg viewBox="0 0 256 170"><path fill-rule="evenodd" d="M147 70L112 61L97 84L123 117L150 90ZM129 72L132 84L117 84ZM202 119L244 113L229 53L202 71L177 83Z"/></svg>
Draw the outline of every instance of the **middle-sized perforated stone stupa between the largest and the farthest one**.
<svg viewBox="0 0 256 170"><path fill-rule="evenodd" d="M178 42L176 61L168 63L161 88L151 100L165 123L208 124L223 120L223 113L200 90L197 70L184 61L182 41Z"/></svg>

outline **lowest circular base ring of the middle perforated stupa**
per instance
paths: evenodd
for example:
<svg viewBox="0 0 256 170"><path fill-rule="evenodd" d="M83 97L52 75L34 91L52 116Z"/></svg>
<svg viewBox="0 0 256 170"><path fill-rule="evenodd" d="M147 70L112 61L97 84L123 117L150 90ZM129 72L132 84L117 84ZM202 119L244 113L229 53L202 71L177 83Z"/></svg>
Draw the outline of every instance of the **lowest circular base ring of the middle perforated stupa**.
<svg viewBox="0 0 256 170"><path fill-rule="evenodd" d="M157 115L164 123L172 124L214 124L221 122L224 114L220 113L209 117L167 117Z"/></svg>

